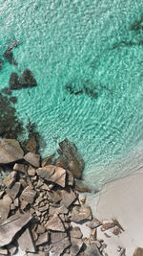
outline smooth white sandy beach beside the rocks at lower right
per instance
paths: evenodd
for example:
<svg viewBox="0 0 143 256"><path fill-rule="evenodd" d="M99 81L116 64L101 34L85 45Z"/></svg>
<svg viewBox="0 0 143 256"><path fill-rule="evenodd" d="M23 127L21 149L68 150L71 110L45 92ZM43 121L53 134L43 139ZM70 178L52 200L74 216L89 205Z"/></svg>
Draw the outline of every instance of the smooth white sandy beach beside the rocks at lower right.
<svg viewBox="0 0 143 256"><path fill-rule="evenodd" d="M107 238L104 232L97 230L97 238L107 244L109 256L120 255L118 246L126 248L126 256L132 256L136 247L143 247L143 170L126 177L113 180L104 185L98 196L87 198L92 207L92 215L99 221L116 219L125 229L120 235L112 234Z"/></svg>

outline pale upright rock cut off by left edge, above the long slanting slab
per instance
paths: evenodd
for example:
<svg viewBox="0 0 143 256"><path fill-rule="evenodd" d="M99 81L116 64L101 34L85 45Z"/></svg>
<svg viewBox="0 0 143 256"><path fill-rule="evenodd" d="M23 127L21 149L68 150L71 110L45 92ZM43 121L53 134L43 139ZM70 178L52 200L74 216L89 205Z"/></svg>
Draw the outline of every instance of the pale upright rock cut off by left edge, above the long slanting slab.
<svg viewBox="0 0 143 256"><path fill-rule="evenodd" d="M2 199L0 199L0 223L7 220L10 213L10 204L12 200L9 195L5 195Z"/></svg>

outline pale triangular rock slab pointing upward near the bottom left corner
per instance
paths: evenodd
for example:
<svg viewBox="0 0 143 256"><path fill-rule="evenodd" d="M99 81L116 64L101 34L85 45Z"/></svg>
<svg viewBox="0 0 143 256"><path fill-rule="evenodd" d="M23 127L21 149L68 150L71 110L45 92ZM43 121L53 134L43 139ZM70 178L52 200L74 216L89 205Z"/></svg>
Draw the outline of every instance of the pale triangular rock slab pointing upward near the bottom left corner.
<svg viewBox="0 0 143 256"><path fill-rule="evenodd" d="M35 246L31 237L31 231L29 227L22 233L22 235L17 240L19 247L23 251L35 252Z"/></svg>

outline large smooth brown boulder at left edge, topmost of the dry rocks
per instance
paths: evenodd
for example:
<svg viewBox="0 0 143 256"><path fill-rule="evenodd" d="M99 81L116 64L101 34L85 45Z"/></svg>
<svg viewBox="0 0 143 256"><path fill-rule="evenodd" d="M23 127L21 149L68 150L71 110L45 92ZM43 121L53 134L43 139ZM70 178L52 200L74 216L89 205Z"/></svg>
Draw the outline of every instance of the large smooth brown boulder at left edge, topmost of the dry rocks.
<svg viewBox="0 0 143 256"><path fill-rule="evenodd" d="M19 142L14 139L0 139L0 164L22 159L24 155Z"/></svg>

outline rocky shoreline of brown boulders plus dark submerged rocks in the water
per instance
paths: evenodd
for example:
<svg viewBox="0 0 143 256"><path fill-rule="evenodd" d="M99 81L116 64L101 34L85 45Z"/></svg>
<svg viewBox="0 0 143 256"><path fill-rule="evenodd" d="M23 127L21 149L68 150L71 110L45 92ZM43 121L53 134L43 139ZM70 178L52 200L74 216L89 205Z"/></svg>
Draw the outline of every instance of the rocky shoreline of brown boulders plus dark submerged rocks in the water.
<svg viewBox="0 0 143 256"><path fill-rule="evenodd" d="M15 66L12 49L17 46L13 42L3 55ZM0 70L4 63L0 58ZM21 76L12 72L9 87L0 92L0 255L18 255L20 248L26 256L126 256L124 246L118 246L116 255L106 252L105 237L110 242L125 230L116 219L99 221L92 215L92 205L81 194L92 191L82 181L85 163L76 146L65 139L56 152L42 159L34 124L29 121L24 128L18 120L12 90L36 85L31 70L25 69ZM72 84L65 88L74 95L98 96L86 85L78 91ZM24 133L29 139L19 140ZM83 232L83 225L89 234L87 229ZM142 248L134 251L133 256L138 255L143 255Z"/></svg>

